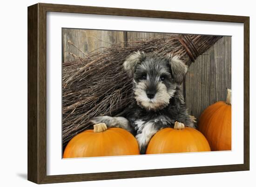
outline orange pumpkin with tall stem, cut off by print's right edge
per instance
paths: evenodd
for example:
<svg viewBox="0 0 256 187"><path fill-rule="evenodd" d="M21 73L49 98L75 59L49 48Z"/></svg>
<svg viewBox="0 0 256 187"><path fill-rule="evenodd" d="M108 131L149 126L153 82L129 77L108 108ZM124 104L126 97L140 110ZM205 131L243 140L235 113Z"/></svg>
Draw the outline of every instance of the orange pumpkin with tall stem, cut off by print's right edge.
<svg viewBox="0 0 256 187"><path fill-rule="evenodd" d="M213 151L231 150L231 90L226 102L217 102L203 111L198 129Z"/></svg>

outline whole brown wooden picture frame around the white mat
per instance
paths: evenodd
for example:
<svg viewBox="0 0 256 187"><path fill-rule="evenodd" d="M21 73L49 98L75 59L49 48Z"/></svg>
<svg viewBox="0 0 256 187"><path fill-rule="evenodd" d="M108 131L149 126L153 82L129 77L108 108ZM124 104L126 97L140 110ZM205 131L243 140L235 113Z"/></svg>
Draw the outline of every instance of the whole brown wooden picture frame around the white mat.
<svg viewBox="0 0 256 187"><path fill-rule="evenodd" d="M243 164L118 171L89 174L47 175L46 146L46 16L47 12L87 13L164 19L232 22L244 24L244 152ZM249 17L180 13L94 6L38 3L28 7L28 180L43 184L93 181L180 174L201 174L249 170Z"/></svg>

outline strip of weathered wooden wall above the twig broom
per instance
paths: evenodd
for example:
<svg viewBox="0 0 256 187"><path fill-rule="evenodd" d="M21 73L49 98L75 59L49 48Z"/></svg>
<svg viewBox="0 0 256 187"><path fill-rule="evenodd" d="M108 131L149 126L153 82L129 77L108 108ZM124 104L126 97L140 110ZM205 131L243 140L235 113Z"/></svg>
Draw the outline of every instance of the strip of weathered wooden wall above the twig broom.
<svg viewBox="0 0 256 187"><path fill-rule="evenodd" d="M150 38L167 35L172 34L63 28L62 61L69 62L78 57L85 58L91 52L101 52L105 48L115 45L125 46L127 41L145 41ZM133 43L129 46L133 46Z"/></svg>

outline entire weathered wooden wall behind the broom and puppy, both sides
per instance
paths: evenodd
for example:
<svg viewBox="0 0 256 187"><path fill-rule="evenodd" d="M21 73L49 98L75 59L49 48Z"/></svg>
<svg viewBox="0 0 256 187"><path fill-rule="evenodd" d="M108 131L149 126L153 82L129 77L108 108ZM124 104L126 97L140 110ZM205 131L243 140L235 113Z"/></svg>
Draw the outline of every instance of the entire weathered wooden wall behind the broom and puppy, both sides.
<svg viewBox="0 0 256 187"><path fill-rule="evenodd" d="M171 35L152 32L120 32L85 29L62 29L63 62L86 57L123 41L139 41ZM225 101L231 89L231 37L224 36L189 67L183 82L183 95L189 114L199 118L210 104Z"/></svg>

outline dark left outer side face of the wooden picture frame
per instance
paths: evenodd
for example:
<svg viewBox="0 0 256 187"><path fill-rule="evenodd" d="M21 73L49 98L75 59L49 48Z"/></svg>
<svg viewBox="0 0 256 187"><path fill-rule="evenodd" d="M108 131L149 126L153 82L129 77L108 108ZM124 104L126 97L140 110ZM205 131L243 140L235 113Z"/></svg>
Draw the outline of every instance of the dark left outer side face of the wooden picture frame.
<svg viewBox="0 0 256 187"><path fill-rule="evenodd" d="M38 5L27 11L27 179L38 183Z"/></svg>

